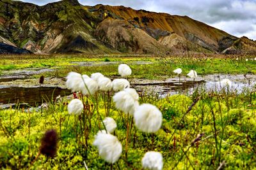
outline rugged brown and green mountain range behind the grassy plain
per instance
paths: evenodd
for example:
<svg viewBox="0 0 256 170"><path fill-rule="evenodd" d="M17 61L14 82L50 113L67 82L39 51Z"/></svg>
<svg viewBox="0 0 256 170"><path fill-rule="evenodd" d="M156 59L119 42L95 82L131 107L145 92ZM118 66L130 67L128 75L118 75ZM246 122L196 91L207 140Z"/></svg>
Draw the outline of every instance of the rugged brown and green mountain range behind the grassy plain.
<svg viewBox="0 0 256 170"><path fill-rule="evenodd" d="M187 16L63 0L0 1L0 42L33 53L255 53L256 44Z"/></svg>

